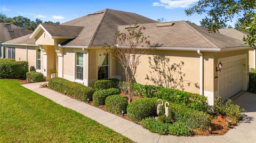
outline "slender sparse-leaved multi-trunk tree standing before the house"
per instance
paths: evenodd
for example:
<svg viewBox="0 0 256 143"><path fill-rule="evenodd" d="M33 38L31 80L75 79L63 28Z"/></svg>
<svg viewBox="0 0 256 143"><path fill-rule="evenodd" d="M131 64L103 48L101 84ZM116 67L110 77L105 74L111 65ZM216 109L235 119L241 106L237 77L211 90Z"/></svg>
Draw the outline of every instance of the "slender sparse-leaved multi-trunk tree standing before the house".
<svg viewBox="0 0 256 143"><path fill-rule="evenodd" d="M111 56L124 68L129 103L132 102L133 83L141 57L156 46L151 45L148 37L143 35L145 29L135 24L134 27L127 29L127 32L117 31L118 46L114 44L106 46Z"/></svg>

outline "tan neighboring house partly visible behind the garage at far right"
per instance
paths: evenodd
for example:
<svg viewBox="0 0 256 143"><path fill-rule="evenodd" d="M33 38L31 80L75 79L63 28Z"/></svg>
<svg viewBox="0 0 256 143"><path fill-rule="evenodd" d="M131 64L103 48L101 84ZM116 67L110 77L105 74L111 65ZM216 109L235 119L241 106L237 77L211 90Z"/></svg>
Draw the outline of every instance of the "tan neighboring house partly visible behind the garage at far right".
<svg viewBox="0 0 256 143"><path fill-rule="evenodd" d="M247 33L236 30L234 28L228 28L228 29L219 29L219 32L222 33L223 35L227 35L232 38L236 38L238 40L242 40L244 37L247 37ZM244 41L245 43L245 41ZM256 51L255 49L250 49L249 50L249 68L256 68Z"/></svg>

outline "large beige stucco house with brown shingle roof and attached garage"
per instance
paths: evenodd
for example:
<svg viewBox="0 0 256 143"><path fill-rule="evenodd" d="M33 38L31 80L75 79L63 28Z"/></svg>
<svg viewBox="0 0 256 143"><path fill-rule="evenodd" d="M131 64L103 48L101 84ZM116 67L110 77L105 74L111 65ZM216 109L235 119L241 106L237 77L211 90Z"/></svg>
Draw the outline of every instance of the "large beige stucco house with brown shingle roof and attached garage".
<svg viewBox="0 0 256 143"><path fill-rule="evenodd" d="M126 32L134 23L146 27L143 34L151 44L163 44L142 56L137 82L205 95L210 105L218 95L227 99L247 90L249 47L186 21L159 23L135 13L106 9L60 25L40 24L30 36L4 44L19 49L17 57L31 60L30 66L47 80L50 70L56 69L58 77L93 86L100 79L125 80L122 66L102 47L118 44L116 31Z"/></svg>

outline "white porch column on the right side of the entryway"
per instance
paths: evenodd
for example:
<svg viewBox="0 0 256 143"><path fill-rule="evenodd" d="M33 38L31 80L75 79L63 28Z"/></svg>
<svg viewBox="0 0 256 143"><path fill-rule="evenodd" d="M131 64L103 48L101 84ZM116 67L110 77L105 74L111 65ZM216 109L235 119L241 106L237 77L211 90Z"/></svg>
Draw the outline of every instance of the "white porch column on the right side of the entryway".
<svg viewBox="0 0 256 143"><path fill-rule="evenodd" d="M63 48L54 46L58 56L58 77L63 78Z"/></svg>

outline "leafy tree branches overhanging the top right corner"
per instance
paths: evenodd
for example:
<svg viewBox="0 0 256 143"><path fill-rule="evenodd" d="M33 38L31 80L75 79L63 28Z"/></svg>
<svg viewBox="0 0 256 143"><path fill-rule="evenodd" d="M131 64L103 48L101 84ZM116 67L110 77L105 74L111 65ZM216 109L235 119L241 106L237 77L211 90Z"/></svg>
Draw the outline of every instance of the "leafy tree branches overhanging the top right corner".
<svg viewBox="0 0 256 143"><path fill-rule="evenodd" d="M209 28L210 32L217 32L238 15L244 20L242 29L249 34L243 40L251 47L256 48L256 30L252 23L255 21L255 9L256 0L199 0L197 5L185 10L185 13L187 15L206 13L207 16L202 19L201 24Z"/></svg>

